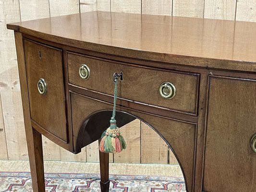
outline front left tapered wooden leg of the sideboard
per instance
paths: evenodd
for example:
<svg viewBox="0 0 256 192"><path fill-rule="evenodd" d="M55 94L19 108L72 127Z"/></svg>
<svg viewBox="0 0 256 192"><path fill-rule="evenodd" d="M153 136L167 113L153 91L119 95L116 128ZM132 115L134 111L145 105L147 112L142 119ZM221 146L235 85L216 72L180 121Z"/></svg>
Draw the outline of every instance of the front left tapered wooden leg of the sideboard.
<svg viewBox="0 0 256 192"><path fill-rule="evenodd" d="M42 135L34 128L26 128L26 139L33 192L45 192Z"/></svg>

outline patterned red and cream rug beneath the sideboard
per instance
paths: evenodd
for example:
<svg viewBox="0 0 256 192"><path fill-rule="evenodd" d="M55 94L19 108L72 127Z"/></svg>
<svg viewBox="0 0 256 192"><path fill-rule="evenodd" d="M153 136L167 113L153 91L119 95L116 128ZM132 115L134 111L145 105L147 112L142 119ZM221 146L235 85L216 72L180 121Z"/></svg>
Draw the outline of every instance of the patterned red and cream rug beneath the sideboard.
<svg viewBox="0 0 256 192"><path fill-rule="evenodd" d="M46 192L100 192L99 174L46 173ZM0 172L0 192L33 192L29 172ZM183 178L110 175L110 192L185 192Z"/></svg>

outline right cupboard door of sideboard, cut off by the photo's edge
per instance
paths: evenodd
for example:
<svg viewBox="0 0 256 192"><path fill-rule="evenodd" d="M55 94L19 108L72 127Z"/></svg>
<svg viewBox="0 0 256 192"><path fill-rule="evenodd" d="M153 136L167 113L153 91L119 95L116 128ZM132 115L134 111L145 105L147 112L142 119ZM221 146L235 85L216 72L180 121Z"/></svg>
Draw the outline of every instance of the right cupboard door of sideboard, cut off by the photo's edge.
<svg viewBox="0 0 256 192"><path fill-rule="evenodd" d="M256 81L210 77L203 191L255 192Z"/></svg>

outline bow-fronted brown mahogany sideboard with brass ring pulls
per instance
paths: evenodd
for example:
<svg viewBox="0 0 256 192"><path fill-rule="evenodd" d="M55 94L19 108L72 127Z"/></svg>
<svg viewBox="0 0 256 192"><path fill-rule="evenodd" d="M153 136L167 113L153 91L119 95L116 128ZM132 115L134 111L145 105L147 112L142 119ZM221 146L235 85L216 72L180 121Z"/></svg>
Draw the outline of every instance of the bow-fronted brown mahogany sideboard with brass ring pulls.
<svg viewBox="0 0 256 192"><path fill-rule="evenodd" d="M7 27L34 192L45 190L41 134L75 154L98 140L115 72L118 126L138 118L158 132L187 192L256 191L256 23L86 12ZM100 166L108 191L108 154Z"/></svg>

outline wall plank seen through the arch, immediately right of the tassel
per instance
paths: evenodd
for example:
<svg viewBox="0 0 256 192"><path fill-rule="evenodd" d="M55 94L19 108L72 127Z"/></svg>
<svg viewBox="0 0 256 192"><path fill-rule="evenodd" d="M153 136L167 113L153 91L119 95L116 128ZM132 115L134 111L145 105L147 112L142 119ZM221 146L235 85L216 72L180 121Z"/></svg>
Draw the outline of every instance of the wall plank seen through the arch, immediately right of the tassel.
<svg viewBox="0 0 256 192"><path fill-rule="evenodd" d="M140 163L140 120L133 120L120 131L127 148L121 153L114 154L114 163Z"/></svg>

